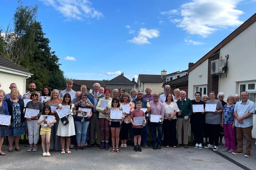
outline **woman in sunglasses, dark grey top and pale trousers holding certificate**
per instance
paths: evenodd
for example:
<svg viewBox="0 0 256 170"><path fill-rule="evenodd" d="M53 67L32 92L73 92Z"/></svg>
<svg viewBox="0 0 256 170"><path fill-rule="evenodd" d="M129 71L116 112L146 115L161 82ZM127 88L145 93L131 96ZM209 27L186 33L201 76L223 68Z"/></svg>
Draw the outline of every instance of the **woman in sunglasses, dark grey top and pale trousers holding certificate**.
<svg viewBox="0 0 256 170"><path fill-rule="evenodd" d="M27 151L35 152L35 151L37 151L37 142L39 139L39 129L40 129L40 124L37 124L37 121L38 121L38 118L40 118L40 116L42 114L44 104L38 100L39 96L38 96L37 91L31 92L30 99L32 99L32 101L29 101L27 103L26 109L30 108L30 109L39 110L39 113L37 115L34 115L30 118L26 118L28 132L29 132L29 134L28 134L29 148ZM33 143L34 143L34 147L32 148Z"/></svg>

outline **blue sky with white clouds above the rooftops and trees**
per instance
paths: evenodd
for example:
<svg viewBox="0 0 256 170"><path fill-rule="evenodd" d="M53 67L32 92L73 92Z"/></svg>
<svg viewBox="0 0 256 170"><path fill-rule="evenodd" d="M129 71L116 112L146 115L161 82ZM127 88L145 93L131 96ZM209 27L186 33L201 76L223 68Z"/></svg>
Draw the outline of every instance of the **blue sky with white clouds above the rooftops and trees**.
<svg viewBox="0 0 256 170"><path fill-rule="evenodd" d="M188 69L255 12L256 0L23 0L64 76L111 80L122 72L167 74ZM0 29L13 23L16 0L1 1ZM4 17L3 17L4 16Z"/></svg>

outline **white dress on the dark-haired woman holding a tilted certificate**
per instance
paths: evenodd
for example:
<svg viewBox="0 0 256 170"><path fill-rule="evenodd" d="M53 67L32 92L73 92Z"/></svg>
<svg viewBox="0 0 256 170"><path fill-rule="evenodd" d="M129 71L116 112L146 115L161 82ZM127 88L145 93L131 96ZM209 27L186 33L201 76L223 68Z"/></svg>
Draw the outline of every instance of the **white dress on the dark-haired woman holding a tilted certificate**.
<svg viewBox="0 0 256 170"><path fill-rule="evenodd" d="M62 107L64 107L64 106L65 105L62 105ZM74 107L74 104L72 104L71 108L72 107ZM70 109L70 112L72 112L72 109ZM67 125L63 125L61 120L59 121L58 130L57 130L56 135L58 135L58 136L73 136L76 134L73 116L69 115L67 119L69 121L69 123Z"/></svg>

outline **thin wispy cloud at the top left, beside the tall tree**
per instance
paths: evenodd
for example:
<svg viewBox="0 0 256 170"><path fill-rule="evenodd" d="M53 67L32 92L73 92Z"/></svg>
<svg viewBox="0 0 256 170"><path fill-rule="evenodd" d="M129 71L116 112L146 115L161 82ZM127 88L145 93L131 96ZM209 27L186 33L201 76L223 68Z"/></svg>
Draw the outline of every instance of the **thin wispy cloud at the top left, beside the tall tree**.
<svg viewBox="0 0 256 170"><path fill-rule="evenodd" d="M88 0L40 0L47 6L52 6L68 20L85 20L88 18L100 19L103 14L94 7Z"/></svg>

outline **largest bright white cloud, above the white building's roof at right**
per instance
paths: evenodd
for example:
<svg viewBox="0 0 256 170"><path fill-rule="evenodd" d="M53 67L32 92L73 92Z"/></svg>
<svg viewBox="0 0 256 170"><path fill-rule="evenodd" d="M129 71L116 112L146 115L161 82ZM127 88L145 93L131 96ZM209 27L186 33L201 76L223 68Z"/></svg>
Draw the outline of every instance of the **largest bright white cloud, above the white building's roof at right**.
<svg viewBox="0 0 256 170"><path fill-rule="evenodd" d="M171 22L186 30L189 34L207 37L219 29L237 27L243 22L239 20L242 11L237 10L237 4L242 0L192 0L181 5L180 12L162 12L169 15ZM181 18L173 16L179 14ZM173 19L174 17L174 19Z"/></svg>

